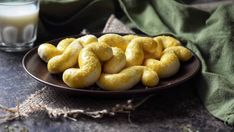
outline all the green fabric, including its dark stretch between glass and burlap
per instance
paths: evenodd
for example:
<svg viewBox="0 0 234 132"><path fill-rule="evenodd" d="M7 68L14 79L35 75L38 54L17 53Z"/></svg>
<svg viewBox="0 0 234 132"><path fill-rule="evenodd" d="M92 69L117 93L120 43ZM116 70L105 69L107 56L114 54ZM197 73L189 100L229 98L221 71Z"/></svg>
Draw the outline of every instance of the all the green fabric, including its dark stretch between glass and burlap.
<svg viewBox="0 0 234 132"><path fill-rule="evenodd" d="M234 5L205 12L173 0L119 3L137 29L148 35L173 34L194 51L202 72L191 87L198 89L211 114L234 125ZM77 34L82 28L98 31L114 6L112 0L41 0L38 37Z"/></svg>

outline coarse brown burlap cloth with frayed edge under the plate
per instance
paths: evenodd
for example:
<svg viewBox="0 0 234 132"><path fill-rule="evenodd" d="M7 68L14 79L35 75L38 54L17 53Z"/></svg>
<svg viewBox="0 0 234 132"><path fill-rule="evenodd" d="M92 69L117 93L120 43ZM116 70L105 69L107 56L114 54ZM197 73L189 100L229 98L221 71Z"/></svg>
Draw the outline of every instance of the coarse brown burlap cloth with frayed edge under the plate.
<svg viewBox="0 0 234 132"><path fill-rule="evenodd" d="M108 19L103 32L133 33L114 15ZM6 116L1 117L0 122L25 118L32 114L40 115L41 112L48 113L51 118L63 117L72 120L77 120L80 115L92 118L101 118L104 115L114 116L117 113L130 113L151 96L132 99L92 99L71 96L56 89L43 87L15 108L5 108L0 105L0 108L6 112Z"/></svg>

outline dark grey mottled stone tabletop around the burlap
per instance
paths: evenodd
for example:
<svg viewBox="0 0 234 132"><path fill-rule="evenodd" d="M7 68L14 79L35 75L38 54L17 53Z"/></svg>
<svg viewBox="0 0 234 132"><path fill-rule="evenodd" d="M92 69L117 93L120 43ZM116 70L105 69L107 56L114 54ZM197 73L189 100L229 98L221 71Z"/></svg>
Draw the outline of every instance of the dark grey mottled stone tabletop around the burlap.
<svg viewBox="0 0 234 132"><path fill-rule="evenodd" d="M28 95L43 87L23 70L24 53L0 51L0 104L13 107ZM191 81L194 81L194 78ZM85 116L77 122L68 119L50 119L47 114L6 122L0 131L234 131L212 117L199 100L191 81L168 91L157 93L130 115L92 119Z"/></svg>

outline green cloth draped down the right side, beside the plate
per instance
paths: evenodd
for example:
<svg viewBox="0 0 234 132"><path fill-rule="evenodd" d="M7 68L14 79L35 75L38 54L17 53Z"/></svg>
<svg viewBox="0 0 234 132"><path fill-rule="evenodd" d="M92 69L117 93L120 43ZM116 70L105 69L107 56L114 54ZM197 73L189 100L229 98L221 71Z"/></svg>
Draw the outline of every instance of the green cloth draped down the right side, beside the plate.
<svg viewBox="0 0 234 132"><path fill-rule="evenodd" d="M202 62L195 84L200 98L211 114L234 125L234 5L204 12L173 0L119 2L144 33L173 34L195 52Z"/></svg>

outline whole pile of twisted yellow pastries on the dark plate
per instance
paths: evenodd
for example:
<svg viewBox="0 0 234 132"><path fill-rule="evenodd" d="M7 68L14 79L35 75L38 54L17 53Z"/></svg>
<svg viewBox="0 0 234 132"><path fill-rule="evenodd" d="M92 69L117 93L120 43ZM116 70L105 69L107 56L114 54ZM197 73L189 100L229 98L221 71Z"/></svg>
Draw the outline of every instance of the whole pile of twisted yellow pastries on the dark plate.
<svg viewBox="0 0 234 132"><path fill-rule="evenodd" d="M140 81L153 87L159 79L176 74L180 61L192 57L190 50L170 36L104 34L66 38L57 47L44 43L38 55L52 74L63 74L65 84L87 88L97 84L104 90L132 88Z"/></svg>

